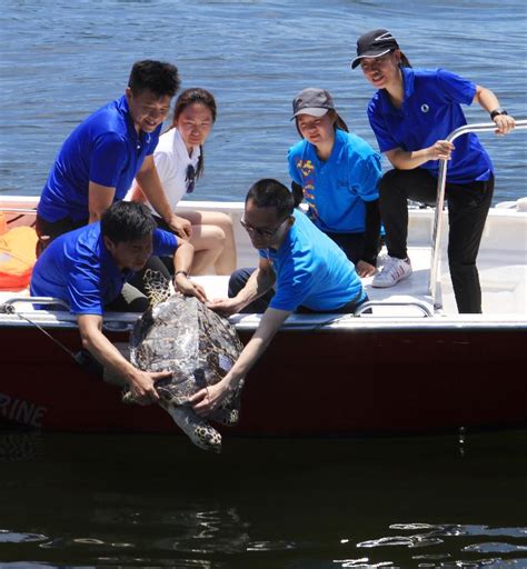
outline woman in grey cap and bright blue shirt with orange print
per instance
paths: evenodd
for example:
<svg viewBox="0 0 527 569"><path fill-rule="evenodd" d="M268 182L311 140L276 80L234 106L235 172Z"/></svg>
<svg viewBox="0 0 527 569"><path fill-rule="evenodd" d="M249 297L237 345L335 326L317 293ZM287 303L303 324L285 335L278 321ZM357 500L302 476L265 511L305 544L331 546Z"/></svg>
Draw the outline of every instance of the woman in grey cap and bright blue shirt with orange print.
<svg viewBox="0 0 527 569"><path fill-rule="evenodd" d="M311 221L346 252L360 277L374 274L380 231L379 154L348 132L324 89L300 91L292 112L302 137L288 153L296 201L301 201L301 192Z"/></svg>

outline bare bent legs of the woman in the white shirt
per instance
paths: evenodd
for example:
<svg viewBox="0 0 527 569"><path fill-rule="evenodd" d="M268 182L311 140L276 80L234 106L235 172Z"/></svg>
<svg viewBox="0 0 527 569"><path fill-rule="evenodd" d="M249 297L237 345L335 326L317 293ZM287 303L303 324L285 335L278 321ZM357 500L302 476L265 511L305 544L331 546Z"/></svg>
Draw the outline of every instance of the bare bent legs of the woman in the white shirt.
<svg viewBox="0 0 527 569"><path fill-rule="evenodd" d="M196 270L206 271L213 266L217 274L231 274L236 269L237 254L232 220L229 216L216 211L177 211L178 216L192 223L192 238L190 242L196 247L196 257L192 264L193 274L202 274ZM199 229L201 227L201 230ZM213 247L213 241L221 243L221 250L216 256L210 253L201 261L200 252ZM213 248L218 249L218 244ZM202 257L206 253L203 252ZM213 259L212 259L213 257ZM211 260L212 259L212 260ZM209 264L206 264L209 263Z"/></svg>

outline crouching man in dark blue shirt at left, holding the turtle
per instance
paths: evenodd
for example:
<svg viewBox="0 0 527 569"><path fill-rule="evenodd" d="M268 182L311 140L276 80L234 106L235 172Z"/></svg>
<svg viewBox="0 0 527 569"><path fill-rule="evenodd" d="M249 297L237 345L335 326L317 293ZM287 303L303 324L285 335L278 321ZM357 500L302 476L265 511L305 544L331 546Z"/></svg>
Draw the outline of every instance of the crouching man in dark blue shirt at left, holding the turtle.
<svg viewBox="0 0 527 569"><path fill-rule="evenodd" d="M142 403L158 400L153 383L168 373L143 372L127 361L102 333L102 316L109 307L127 305L119 299L121 290L132 289L128 281L152 252L173 254L176 288L206 300L203 289L188 279L193 247L157 229L150 210L137 202L119 201L101 221L58 237L40 256L31 278L31 296L68 302L77 316L82 346L105 368L125 378ZM142 311L147 306L148 300L136 291L128 310Z"/></svg>

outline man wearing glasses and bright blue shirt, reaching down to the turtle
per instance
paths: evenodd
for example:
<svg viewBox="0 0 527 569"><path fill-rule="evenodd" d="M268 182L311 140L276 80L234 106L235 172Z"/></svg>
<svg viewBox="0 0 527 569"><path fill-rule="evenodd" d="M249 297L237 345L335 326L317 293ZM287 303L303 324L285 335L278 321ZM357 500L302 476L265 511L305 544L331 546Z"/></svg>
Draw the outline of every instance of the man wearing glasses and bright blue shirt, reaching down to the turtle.
<svg viewBox="0 0 527 569"><path fill-rule="evenodd" d="M240 269L229 282L228 299L209 307L230 316L264 312L260 323L225 378L198 391L190 401L206 417L249 372L292 312L349 313L367 300L355 266L346 253L295 210L290 191L264 179L249 190L241 224L258 249L257 269Z"/></svg>

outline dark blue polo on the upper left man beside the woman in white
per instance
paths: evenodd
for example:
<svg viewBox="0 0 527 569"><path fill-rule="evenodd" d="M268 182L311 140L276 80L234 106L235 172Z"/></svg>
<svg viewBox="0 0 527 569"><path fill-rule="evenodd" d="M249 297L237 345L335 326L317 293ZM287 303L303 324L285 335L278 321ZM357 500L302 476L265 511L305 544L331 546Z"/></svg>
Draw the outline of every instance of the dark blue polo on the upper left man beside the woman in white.
<svg viewBox="0 0 527 569"><path fill-rule="evenodd" d="M113 201L130 189L145 157L153 153L162 126L138 136L125 96L81 122L60 149L40 197L47 221L88 219L89 182L116 188Z"/></svg>

